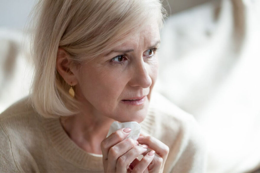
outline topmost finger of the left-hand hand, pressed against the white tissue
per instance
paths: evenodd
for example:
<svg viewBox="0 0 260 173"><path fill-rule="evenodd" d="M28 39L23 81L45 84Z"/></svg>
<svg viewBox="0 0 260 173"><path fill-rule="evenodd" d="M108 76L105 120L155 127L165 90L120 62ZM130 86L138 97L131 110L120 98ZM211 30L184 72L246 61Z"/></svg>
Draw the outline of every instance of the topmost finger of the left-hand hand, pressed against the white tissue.
<svg viewBox="0 0 260 173"><path fill-rule="evenodd" d="M104 139L100 146L103 155L103 160L107 160L109 149L115 144L124 140L131 132L130 128L122 128L113 132L110 136Z"/></svg>

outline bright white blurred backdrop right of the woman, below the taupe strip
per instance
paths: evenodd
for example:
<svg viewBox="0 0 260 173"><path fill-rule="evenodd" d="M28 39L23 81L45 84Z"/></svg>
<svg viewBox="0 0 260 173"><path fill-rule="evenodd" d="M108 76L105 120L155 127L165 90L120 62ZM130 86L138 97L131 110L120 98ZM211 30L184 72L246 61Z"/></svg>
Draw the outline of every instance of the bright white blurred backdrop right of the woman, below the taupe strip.
<svg viewBox="0 0 260 173"><path fill-rule="evenodd" d="M207 172L260 167L260 1L211 1L169 17L157 90L193 114Z"/></svg>

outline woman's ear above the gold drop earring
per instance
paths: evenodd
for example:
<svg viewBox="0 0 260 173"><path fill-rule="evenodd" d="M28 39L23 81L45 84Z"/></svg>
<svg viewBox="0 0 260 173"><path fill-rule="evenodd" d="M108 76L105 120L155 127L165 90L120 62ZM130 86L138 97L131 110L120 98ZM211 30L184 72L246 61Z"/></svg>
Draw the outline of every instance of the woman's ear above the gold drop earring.
<svg viewBox="0 0 260 173"><path fill-rule="evenodd" d="M59 48L56 59L56 69L68 85L74 86L78 83L78 80L72 72L71 62L72 60L69 58L69 54L64 49Z"/></svg>

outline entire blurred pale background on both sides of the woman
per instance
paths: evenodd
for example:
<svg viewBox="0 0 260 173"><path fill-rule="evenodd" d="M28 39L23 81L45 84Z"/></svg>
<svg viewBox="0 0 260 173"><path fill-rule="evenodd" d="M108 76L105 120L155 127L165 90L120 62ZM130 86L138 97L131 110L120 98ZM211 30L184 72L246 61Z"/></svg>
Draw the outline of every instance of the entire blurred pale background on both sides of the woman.
<svg viewBox="0 0 260 173"><path fill-rule="evenodd" d="M0 0L0 113L29 92L33 65L23 29L34 3ZM200 124L207 172L260 172L260 1L163 4L169 16L155 89Z"/></svg>

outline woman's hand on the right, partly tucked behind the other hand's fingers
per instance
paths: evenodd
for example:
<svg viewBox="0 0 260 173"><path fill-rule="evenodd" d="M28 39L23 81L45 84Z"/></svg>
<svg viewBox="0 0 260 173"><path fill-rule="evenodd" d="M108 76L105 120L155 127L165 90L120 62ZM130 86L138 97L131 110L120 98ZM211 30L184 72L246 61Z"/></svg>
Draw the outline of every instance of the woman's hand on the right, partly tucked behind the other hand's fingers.
<svg viewBox="0 0 260 173"><path fill-rule="evenodd" d="M164 164L169 153L169 147L153 136L143 136L141 134L137 141L139 142L139 144L146 144L148 146L148 149L151 149L147 150L142 155L145 156L147 153L155 151L153 161L149 164L144 172L163 172ZM138 159L135 159L131 163L131 165L133 166L133 170L131 172L139 172L139 170L135 170L135 165L141 163L142 160L138 161Z"/></svg>

